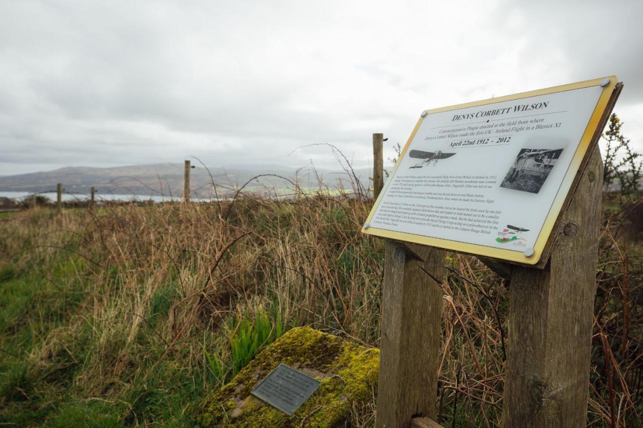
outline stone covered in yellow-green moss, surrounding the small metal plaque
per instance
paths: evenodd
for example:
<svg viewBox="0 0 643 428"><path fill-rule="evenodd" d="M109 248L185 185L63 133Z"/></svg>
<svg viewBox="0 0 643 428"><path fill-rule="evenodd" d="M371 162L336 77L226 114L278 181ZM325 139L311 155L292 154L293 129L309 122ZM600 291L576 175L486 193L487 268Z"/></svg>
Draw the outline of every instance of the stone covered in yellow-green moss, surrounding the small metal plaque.
<svg viewBox="0 0 643 428"><path fill-rule="evenodd" d="M280 363L321 381L292 416L250 395ZM379 350L365 348L308 327L293 328L206 398L195 420L203 426L335 427L347 420L353 402L377 391Z"/></svg>

